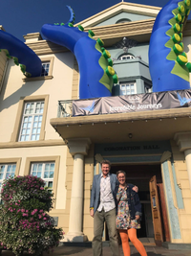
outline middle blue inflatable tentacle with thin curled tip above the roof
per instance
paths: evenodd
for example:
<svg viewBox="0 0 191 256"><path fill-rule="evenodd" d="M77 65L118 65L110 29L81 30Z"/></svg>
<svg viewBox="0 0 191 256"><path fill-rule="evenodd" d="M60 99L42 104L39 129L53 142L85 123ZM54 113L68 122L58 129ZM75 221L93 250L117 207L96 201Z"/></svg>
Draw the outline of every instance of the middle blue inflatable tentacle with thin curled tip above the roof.
<svg viewBox="0 0 191 256"><path fill-rule="evenodd" d="M67 7L71 12L69 22L45 24L42 34L74 53L80 74L80 99L111 96L113 84L117 83L111 55L104 49L100 38L93 38L94 33L91 30L87 33L80 25L74 27L74 12L71 7Z"/></svg>

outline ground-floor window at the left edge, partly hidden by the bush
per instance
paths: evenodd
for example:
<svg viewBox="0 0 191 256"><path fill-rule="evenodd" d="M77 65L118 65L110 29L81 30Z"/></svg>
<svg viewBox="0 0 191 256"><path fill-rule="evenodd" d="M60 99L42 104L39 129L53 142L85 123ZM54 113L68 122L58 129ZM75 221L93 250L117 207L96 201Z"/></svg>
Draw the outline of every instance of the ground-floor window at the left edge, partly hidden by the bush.
<svg viewBox="0 0 191 256"><path fill-rule="evenodd" d="M4 179L8 179L15 175L16 164L0 164L0 191L2 189L2 183ZM0 204L2 204L1 194L0 194Z"/></svg>

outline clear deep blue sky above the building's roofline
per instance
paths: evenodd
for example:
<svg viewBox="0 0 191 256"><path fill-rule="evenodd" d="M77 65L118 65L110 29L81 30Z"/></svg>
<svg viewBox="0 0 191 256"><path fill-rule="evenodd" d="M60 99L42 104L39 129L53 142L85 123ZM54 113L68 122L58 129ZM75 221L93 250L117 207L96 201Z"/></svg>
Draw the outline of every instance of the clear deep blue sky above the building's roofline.
<svg viewBox="0 0 191 256"><path fill-rule="evenodd" d="M75 13L75 23L97 12L110 8L118 0L1 0L0 25L11 35L23 40L23 35L40 32L45 23L67 22L69 5ZM168 0L131 0L124 1L143 5L162 7Z"/></svg>

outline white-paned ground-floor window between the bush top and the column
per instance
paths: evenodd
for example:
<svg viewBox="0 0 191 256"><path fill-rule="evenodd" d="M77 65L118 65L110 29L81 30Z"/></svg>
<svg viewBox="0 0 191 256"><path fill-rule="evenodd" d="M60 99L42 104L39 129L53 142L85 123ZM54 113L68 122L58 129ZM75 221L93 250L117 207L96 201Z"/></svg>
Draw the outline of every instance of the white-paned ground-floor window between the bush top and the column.
<svg viewBox="0 0 191 256"><path fill-rule="evenodd" d="M31 175L41 177L45 182L45 187L48 187L48 191L53 192L53 175L54 175L55 163L54 162L38 162L32 163Z"/></svg>

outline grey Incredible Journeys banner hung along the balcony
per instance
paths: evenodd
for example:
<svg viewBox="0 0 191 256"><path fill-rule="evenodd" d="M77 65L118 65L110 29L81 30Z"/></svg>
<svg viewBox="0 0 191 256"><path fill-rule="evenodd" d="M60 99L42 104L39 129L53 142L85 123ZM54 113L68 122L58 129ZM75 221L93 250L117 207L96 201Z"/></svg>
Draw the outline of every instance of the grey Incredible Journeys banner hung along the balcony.
<svg viewBox="0 0 191 256"><path fill-rule="evenodd" d="M73 102L73 116L191 107L191 90L103 97Z"/></svg>

